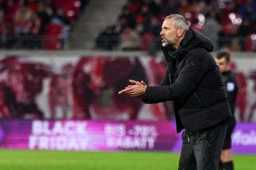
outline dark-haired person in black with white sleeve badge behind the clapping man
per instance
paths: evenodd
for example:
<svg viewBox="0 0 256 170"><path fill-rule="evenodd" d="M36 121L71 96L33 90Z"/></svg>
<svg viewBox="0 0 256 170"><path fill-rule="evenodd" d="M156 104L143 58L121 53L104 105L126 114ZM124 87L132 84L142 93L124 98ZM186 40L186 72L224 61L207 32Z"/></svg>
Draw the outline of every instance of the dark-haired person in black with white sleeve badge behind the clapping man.
<svg viewBox="0 0 256 170"><path fill-rule="evenodd" d="M223 51L217 54L216 63L220 67L222 80L226 85L228 94L228 102L231 108L232 115L235 113L236 108L236 95L238 92L238 85L236 77L231 72L230 53ZM232 116L228 120L228 129L224 140L223 149L220 156L220 170L233 170L232 152L231 152L231 134L236 125L236 119Z"/></svg>

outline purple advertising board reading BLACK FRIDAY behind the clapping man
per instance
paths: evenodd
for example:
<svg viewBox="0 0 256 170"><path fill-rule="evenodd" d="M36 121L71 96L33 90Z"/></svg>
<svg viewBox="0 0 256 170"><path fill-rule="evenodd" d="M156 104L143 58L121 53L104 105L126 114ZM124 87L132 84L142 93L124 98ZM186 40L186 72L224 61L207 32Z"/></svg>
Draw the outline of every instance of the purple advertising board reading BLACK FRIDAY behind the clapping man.
<svg viewBox="0 0 256 170"><path fill-rule="evenodd" d="M0 120L0 148L180 152L174 121ZM238 123L232 150L256 154L256 124Z"/></svg>

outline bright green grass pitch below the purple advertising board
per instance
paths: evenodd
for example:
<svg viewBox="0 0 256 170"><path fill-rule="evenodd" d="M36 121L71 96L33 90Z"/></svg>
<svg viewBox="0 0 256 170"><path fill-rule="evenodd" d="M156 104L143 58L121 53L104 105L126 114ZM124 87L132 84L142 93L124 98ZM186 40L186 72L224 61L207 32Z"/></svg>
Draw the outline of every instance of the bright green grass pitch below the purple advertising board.
<svg viewBox="0 0 256 170"><path fill-rule="evenodd" d="M0 170L177 170L178 153L0 150ZM234 155L236 170L255 170L256 155Z"/></svg>

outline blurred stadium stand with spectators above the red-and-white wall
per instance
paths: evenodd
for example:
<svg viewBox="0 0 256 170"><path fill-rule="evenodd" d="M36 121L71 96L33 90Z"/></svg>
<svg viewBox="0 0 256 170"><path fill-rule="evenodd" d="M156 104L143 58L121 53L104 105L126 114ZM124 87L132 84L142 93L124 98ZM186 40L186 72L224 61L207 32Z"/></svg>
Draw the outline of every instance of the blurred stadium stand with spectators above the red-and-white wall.
<svg viewBox="0 0 256 170"><path fill-rule="evenodd" d="M1 49L160 49L163 18L181 14L215 49L255 51L254 0L1 0Z"/></svg>

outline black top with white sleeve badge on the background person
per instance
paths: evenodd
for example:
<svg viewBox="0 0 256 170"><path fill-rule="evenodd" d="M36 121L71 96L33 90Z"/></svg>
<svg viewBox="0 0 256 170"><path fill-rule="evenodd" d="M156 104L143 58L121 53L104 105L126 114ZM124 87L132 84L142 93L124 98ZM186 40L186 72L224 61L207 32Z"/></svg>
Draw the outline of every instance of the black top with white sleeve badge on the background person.
<svg viewBox="0 0 256 170"><path fill-rule="evenodd" d="M236 82L236 77L229 70L227 72L222 73L222 81L226 85L228 102L230 105L231 112L232 112L232 114L234 114L235 108L236 108L236 94L238 92L238 85Z"/></svg>

